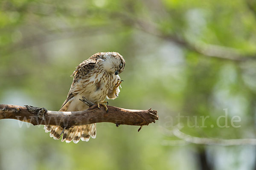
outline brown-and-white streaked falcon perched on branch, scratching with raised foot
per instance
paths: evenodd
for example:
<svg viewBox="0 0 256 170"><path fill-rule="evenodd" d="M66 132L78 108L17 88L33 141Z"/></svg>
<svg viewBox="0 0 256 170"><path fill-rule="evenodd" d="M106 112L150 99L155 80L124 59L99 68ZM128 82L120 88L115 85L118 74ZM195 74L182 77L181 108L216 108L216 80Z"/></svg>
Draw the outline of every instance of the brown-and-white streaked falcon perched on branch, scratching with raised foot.
<svg viewBox="0 0 256 170"><path fill-rule="evenodd" d="M120 90L119 74L125 68L124 58L117 52L96 53L76 67L71 75L73 83L59 111L83 111L89 107L81 102L82 96L98 105L105 105L105 98L115 99ZM45 132L50 132L50 137L60 139L67 143L89 141L90 137L96 138L96 124L74 126L64 129L60 126L44 126Z"/></svg>

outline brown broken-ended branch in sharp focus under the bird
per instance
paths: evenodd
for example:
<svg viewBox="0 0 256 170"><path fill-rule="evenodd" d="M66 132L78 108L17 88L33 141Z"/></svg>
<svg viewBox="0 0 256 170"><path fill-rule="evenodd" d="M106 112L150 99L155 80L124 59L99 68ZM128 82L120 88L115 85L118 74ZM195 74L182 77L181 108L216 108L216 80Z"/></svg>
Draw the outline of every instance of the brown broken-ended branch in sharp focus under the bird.
<svg viewBox="0 0 256 170"><path fill-rule="evenodd" d="M119 125L143 126L158 120L155 110L130 110L108 106L108 112L102 106L91 106L85 111L58 112L45 108L18 105L0 105L0 119L17 119L33 125L57 125L71 127L99 122L111 122Z"/></svg>

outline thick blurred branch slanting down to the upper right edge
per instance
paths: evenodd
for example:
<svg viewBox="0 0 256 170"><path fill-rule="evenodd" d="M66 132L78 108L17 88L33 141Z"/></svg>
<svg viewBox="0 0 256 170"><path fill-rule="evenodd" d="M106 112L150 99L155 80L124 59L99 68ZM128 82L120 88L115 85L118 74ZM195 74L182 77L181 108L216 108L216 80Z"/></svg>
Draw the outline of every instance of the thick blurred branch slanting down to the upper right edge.
<svg viewBox="0 0 256 170"><path fill-rule="evenodd" d="M214 57L218 59L226 59L236 62L243 62L247 60L255 60L256 59L256 53L255 54L243 54L239 51L239 49L236 48L230 48L225 47L221 45L213 45L213 44L206 44L203 42L195 43L195 42L189 42L185 38L178 36L176 34L163 34L162 31L160 31L157 28L157 24L140 20L136 17L131 17L128 14L119 13L116 15L117 17L125 18L122 19L122 21L125 21L126 23L129 23L132 26L135 26L135 28L139 29L140 31L144 31L145 33L154 35L155 37L159 37L166 41L175 42L176 44L180 45L183 48L186 48L190 51L194 51L198 54L201 54L206 57Z"/></svg>

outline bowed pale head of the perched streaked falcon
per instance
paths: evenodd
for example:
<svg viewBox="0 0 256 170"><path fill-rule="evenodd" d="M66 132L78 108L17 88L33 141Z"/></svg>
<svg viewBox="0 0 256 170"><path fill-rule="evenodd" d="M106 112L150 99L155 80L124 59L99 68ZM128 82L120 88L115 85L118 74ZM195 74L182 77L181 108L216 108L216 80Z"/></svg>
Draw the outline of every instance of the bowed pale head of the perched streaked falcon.
<svg viewBox="0 0 256 170"><path fill-rule="evenodd" d="M99 53L104 69L113 74L120 74L125 69L125 59L117 52Z"/></svg>

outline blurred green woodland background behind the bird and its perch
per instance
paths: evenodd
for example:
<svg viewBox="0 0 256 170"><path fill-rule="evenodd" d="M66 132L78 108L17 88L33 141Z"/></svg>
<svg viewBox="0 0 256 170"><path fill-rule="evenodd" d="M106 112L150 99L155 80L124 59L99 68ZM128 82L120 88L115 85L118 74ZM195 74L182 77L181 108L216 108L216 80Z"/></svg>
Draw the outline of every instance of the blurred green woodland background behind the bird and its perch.
<svg viewBox="0 0 256 170"><path fill-rule="evenodd" d="M109 104L152 108L160 119L139 133L99 123L96 139L78 144L0 120L0 169L256 169L253 145L187 144L172 134L180 114L191 136L256 137L255 0L1 0L0 103L58 111L75 67L104 51L126 60ZM230 127L216 125L223 109ZM200 116L209 116L205 127Z"/></svg>

